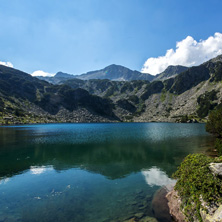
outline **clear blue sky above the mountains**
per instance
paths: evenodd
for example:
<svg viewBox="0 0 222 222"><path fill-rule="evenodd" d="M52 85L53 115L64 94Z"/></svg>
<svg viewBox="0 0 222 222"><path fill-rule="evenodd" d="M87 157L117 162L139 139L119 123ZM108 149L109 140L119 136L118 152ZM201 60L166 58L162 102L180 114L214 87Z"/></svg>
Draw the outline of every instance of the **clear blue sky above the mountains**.
<svg viewBox="0 0 222 222"><path fill-rule="evenodd" d="M176 42L222 33L221 0L0 0L0 61L32 73L141 70Z"/></svg>

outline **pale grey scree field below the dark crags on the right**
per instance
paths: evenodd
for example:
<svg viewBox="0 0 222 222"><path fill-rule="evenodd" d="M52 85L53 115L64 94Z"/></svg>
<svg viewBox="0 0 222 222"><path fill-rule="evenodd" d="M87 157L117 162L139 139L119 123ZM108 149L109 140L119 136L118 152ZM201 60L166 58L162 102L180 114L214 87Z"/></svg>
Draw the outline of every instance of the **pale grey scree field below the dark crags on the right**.
<svg viewBox="0 0 222 222"><path fill-rule="evenodd" d="M218 103L222 101L222 83L214 84L208 81L202 82L196 87L182 93L174 95L153 94L145 101L146 109L140 116L134 117L135 122L176 122L182 116L190 115L198 120L196 110L198 109L197 98L212 90L217 90ZM199 121L204 121L200 120Z"/></svg>

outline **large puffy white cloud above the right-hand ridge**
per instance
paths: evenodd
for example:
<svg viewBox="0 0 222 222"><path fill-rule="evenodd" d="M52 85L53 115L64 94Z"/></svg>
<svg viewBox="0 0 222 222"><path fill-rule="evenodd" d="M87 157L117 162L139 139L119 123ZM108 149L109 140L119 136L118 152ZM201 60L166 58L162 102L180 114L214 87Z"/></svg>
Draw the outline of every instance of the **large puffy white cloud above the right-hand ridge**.
<svg viewBox="0 0 222 222"><path fill-rule="evenodd" d="M206 40L196 41L187 36L176 43L176 50L168 49L164 56L149 58L144 63L141 72L158 74L169 65L195 66L222 54L222 34L216 32Z"/></svg>

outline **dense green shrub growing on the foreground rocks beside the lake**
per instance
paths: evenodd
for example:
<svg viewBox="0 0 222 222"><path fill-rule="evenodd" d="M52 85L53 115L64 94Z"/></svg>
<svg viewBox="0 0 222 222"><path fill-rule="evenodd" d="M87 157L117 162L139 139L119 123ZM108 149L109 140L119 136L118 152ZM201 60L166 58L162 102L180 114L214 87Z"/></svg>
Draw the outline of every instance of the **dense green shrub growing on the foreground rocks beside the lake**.
<svg viewBox="0 0 222 222"><path fill-rule="evenodd" d="M182 199L181 208L189 221L194 221L195 217L202 221L200 197L208 204L222 203L222 181L210 172L208 166L211 162L221 162L221 159L190 154L173 175L178 179L175 190Z"/></svg>

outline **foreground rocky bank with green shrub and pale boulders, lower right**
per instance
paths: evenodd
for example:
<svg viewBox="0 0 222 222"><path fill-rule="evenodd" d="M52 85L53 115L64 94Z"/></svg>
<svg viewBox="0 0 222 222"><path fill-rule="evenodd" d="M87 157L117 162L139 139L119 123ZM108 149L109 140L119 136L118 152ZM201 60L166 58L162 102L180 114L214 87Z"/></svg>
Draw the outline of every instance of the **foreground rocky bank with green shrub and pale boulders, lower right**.
<svg viewBox="0 0 222 222"><path fill-rule="evenodd" d="M187 178L183 179L185 175L183 175L184 170L182 169L182 167L185 167L184 164L186 164L186 161L187 162L190 161L189 158L190 159L193 158L194 161L196 161L195 158L197 160L199 158L199 161L200 160L204 161L205 159L207 159L207 162L206 164L202 164L200 162L195 163L195 166L196 164L200 165L198 171L195 169L196 167L194 167L194 170L191 169L191 172L188 175L186 175ZM185 222L185 221L190 221L192 219L192 221L194 222L197 222L197 221L219 222L222 220L222 203L219 197L221 194L218 193L221 191L217 190L218 189L217 187L220 187L222 184L221 161L222 161L221 158L210 159L208 157L204 157L203 155L202 157L201 155L199 156L196 155L196 157L194 155L189 155L182 162L179 170L176 172L176 176L179 179L176 185L173 187L173 189L166 194L166 198L168 200L169 212L175 221ZM185 169L185 170L189 171L188 169ZM200 181L198 182L196 181L195 176L194 176L196 171L198 172L198 174L200 174L199 175ZM201 178L202 171L204 173L203 178ZM181 182L180 180L183 180L183 182ZM210 180L212 180L212 182ZM207 184L209 184L209 186ZM192 191L193 187L197 187L197 186L199 186L199 188L195 188L194 191ZM208 187L209 190L206 189L205 186ZM188 197L183 196L184 190L186 189L188 193L190 193ZM199 189L199 190L196 190L196 189ZM181 195L182 193L183 195ZM198 200L193 199L194 198L193 196L195 195L196 195L196 198L198 198ZM214 198L211 197L214 195L217 195L217 198L219 199L216 199L215 197ZM192 204L194 206L188 208L189 204Z"/></svg>

